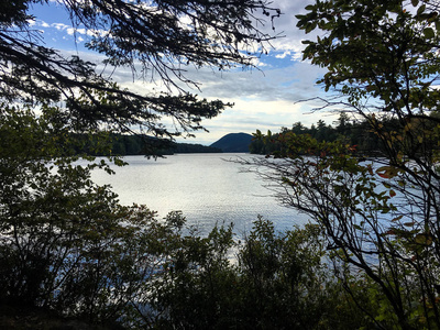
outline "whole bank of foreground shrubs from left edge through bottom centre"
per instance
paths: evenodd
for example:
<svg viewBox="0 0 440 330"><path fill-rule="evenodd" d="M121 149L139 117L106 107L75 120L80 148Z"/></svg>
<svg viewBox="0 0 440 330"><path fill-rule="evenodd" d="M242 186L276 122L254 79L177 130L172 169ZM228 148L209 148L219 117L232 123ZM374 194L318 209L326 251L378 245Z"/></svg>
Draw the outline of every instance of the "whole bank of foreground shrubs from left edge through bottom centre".
<svg viewBox="0 0 440 330"><path fill-rule="evenodd" d="M62 120L51 123L56 108L42 111L0 113L1 306L128 329L366 322L362 315L343 317L353 305L322 263L317 227L276 233L260 219L235 243L232 228L201 238L185 229L179 212L161 220L143 206L121 206L109 187L90 180L95 167L110 172L107 164L75 165L64 145L81 142Z"/></svg>

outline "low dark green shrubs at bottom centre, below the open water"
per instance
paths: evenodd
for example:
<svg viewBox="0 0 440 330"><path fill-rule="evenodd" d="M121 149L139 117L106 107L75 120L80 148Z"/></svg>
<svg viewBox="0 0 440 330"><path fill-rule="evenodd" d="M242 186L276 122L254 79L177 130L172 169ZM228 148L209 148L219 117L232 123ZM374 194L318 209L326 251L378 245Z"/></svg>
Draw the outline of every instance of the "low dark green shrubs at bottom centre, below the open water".
<svg viewBox="0 0 440 330"><path fill-rule="evenodd" d="M350 297L328 275L316 226L276 233L263 219L243 243L231 228L187 238L156 292L161 329L351 329ZM231 263L233 248L238 263ZM351 315L342 317L339 312Z"/></svg>

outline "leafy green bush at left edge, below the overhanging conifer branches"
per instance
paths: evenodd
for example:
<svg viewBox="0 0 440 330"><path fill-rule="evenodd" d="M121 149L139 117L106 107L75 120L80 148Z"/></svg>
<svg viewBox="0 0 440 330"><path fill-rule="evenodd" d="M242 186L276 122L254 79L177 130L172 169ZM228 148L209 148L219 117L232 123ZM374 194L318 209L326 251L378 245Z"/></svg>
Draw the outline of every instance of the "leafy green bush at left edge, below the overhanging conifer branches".
<svg viewBox="0 0 440 330"><path fill-rule="evenodd" d="M52 124L56 110L38 119L18 108L1 112L0 301L118 320L160 266L161 251L147 239L169 237L170 229L92 184L97 164L73 163L64 148L72 135Z"/></svg>

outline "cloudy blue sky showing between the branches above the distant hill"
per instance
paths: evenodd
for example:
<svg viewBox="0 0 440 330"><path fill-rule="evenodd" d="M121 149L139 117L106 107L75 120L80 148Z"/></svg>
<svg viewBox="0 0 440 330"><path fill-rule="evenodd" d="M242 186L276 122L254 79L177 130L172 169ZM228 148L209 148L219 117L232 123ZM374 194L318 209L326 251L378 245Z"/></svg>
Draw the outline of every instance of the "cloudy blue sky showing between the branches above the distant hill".
<svg viewBox="0 0 440 330"><path fill-rule="evenodd" d="M338 117L336 113L316 112L314 101L302 100L322 96L323 91L316 80L323 75L323 69L301 61L302 40L314 38L296 28L296 14L304 13L305 7L314 0L274 0L272 7L282 10L282 16L275 20L275 33L283 37L272 41L267 55L256 59L256 68L237 68L219 72L213 68L191 69L187 76L200 84L200 90L187 88L208 100L221 99L234 103L213 119L204 120L202 125L209 131L195 132L196 138L178 140L185 143L209 145L228 133L254 133L256 130L278 132L282 127L290 128L300 121L310 127L322 119L331 124ZM35 6L31 13L35 15L33 29L42 32L46 46L61 50L63 53L79 55L98 65L101 61L96 53L88 53L84 43L88 31L75 30L66 12L50 1L45 6ZM267 31L272 30L267 22ZM133 79L128 68L113 73L112 78L133 91L145 92L160 90L161 86Z"/></svg>

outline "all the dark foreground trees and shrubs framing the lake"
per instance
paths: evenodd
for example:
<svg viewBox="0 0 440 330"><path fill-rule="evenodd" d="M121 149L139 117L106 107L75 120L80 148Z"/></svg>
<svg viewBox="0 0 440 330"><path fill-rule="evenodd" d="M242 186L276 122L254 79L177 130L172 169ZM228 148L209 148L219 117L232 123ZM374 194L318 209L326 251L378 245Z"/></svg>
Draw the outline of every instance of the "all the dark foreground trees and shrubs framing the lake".
<svg viewBox="0 0 440 330"><path fill-rule="evenodd" d="M88 43L108 65L140 63L175 88L172 77L195 82L184 77L188 63L251 64L239 44L264 51L271 40L255 11L279 15L253 0L57 2L74 26L108 31ZM112 134L133 127L157 138L145 144L154 154L163 138L200 129L227 105L182 89L122 90L45 47L29 29L32 3L50 4L3 1L0 10L0 310L127 329L440 329L438 2L317 1L298 16L299 29L324 32L304 56L327 69L327 90L341 92L321 108L360 124L341 116L316 135L299 123L257 132L268 155L252 168L314 221L277 233L256 219L241 242L232 227L202 238L179 212L157 219L121 206L90 179L94 168L112 172L106 161L74 163L85 146L108 153ZM359 157L348 128L377 141L374 163ZM1 326L23 326L13 319Z"/></svg>

